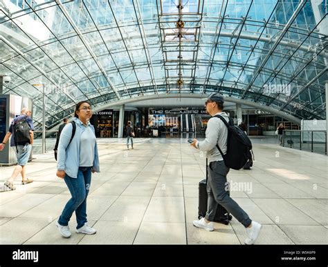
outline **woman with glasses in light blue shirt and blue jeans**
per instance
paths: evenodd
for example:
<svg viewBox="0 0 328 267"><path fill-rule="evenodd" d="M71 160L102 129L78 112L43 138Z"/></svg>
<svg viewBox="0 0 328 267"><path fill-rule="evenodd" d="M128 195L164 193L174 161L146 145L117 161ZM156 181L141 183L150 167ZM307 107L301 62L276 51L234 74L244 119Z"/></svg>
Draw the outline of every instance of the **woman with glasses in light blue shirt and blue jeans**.
<svg viewBox="0 0 328 267"><path fill-rule="evenodd" d="M95 129L89 121L92 117L89 102L77 103L74 117L62 130L57 155L56 175L64 179L72 196L56 224L60 234L66 238L71 237L69 220L73 212L78 223L76 233L96 233L86 219L86 197L90 190L91 172L100 172Z"/></svg>

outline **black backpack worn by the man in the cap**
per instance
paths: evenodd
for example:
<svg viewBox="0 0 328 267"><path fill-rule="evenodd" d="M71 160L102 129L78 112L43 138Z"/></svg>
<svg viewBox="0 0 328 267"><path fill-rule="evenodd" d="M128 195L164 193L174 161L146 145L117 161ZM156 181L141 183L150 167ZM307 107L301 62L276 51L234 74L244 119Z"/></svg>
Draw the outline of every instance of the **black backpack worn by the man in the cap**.
<svg viewBox="0 0 328 267"><path fill-rule="evenodd" d="M248 161L248 153L252 149L252 143L250 139L238 126L233 124L233 121L229 119L229 123L221 115L215 115L221 119L228 128L228 144L226 155L222 153L222 150L217 145L222 157L224 158L224 164L228 168L239 170L244 167L246 161Z"/></svg>

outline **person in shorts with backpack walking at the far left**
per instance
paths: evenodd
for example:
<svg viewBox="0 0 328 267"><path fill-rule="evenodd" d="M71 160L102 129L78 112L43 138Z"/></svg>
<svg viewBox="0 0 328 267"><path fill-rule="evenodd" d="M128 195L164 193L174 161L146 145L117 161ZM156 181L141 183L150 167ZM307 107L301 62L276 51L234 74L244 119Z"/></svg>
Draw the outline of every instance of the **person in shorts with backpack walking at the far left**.
<svg viewBox="0 0 328 267"><path fill-rule="evenodd" d="M15 190L14 186L15 178L21 174L21 184L30 184L33 179L26 178L26 164L30 157L30 152L33 146L33 121L31 119L32 112L28 108L23 108L21 110L21 115L16 117L10 123L9 131L7 132L5 138L0 144L0 151L5 148L10 136L10 146L14 148L17 157L17 166L12 172L11 177L4 183L10 190Z"/></svg>

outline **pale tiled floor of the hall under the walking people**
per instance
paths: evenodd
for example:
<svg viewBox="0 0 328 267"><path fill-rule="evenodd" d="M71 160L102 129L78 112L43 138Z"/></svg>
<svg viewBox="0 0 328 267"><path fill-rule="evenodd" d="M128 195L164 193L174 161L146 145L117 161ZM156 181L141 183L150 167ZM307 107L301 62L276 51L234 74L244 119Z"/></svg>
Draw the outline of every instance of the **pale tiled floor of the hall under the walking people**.
<svg viewBox="0 0 328 267"><path fill-rule="evenodd" d="M53 154L28 164L33 184L0 192L0 244L244 244L233 218L215 231L195 228L203 153L185 139L98 140L101 172L93 175L89 224L96 235L64 239L55 221L69 200ZM252 170L230 170L231 195L263 225L257 244L328 244L328 157L254 142ZM13 166L0 168L1 188Z"/></svg>

